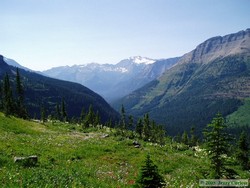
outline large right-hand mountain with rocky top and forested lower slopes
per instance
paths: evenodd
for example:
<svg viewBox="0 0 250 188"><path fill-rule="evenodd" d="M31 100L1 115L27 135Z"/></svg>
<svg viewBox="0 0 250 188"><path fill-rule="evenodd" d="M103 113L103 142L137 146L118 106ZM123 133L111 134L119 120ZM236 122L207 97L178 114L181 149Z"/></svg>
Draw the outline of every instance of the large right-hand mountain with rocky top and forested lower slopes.
<svg viewBox="0 0 250 188"><path fill-rule="evenodd" d="M213 37L183 55L161 77L125 96L129 114L149 113L173 133L203 127L216 113L224 117L250 97L250 29ZM250 109L243 116L249 116ZM250 123L246 122L246 125Z"/></svg>

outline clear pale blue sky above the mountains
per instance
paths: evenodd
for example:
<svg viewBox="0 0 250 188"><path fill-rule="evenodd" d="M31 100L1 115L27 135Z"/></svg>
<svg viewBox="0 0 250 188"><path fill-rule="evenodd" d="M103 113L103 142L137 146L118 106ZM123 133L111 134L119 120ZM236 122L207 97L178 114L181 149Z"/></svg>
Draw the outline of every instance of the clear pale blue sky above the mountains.
<svg viewBox="0 0 250 188"><path fill-rule="evenodd" d="M250 28L249 0L1 0L0 54L33 70L181 56Z"/></svg>

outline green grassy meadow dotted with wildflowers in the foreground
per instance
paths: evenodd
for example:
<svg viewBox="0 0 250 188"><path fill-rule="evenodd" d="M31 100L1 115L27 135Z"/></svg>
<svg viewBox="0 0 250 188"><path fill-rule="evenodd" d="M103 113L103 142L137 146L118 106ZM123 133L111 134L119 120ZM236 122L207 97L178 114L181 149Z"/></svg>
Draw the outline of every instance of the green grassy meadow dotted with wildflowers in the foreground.
<svg viewBox="0 0 250 188"><path fill-rule="evenodd" d="M109 136L105 136L105 135ZM0 113L2 187L131 187L147 153L168 187L198 187L208 174L203 152L166 139L165 146L115 136L109 128L81 130L63 123L36 123ZM15 156L37 155L35 166L14 163ZM241 178L249 173L236 171Z"/></svg>

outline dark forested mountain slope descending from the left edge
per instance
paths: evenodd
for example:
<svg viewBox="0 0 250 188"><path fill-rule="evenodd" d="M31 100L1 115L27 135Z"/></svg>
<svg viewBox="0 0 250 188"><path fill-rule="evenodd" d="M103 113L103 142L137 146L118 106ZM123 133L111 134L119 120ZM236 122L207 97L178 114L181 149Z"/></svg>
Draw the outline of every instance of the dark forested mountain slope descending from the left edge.
<svg viewBox="0 0 250 188"><path fill-rule="evenodd" d="M16 67L20 65L6 59L0 55L0 81L7 73L15 91ZM11 62L15 67L5 61ZM42 106L46 108L47 114L53 115L57 104L61 105L64 99L69 118L80 117L82 109L87 112L92 105L102 122L119 119L119 114L100 95L81 84L49 78L28 69L19 69L19 72L24 87L25 105L31 118L40 117Z"/></svg>

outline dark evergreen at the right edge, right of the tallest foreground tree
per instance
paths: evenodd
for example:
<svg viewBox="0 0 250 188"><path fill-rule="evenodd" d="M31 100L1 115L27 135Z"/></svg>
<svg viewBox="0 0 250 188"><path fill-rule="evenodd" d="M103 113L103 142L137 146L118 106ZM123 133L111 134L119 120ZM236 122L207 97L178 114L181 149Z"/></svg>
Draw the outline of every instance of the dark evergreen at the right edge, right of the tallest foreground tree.
<svg viewBox="0 0 250 188"><path fill-rule="evenodd" d="M249 169L249 147L246 132L242 132L237 144L236 158L243 170Z"/></svg>

